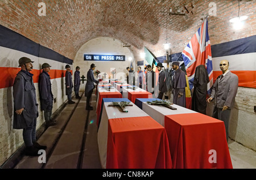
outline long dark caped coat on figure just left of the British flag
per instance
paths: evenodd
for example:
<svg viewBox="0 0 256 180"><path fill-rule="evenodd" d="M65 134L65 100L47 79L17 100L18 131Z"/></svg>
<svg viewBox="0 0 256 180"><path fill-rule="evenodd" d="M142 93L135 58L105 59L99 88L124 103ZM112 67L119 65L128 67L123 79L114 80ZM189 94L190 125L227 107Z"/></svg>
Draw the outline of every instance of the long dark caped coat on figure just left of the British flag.
<svg viewBox="0 0 256 180"><path fill-rule="evenodd" d="M174 63L172 63L174 64ZM185 72L177 68L173 79L174 104L186 107L185 87L187 86ZM180 95L181 97L178 97Z"/></svg>

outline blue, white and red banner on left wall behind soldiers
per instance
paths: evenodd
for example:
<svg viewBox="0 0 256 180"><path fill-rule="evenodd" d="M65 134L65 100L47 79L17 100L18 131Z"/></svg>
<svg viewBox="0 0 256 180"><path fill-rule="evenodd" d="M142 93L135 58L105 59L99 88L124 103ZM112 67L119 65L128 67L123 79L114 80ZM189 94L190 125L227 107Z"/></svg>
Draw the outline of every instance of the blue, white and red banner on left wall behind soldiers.
<svg viewBox="0 0 256 180"><path fill-rule="evenodd" d="M49 72L51 79L64 78L63 67L73 64L72 59L0 25L0 89L13 86L15 76L20 71L18 59L23 56L34 61L34 68L31 71L34 74L34 83L39 81L39 75L42 72L40 67L44 62L52 66Z"/></svg>

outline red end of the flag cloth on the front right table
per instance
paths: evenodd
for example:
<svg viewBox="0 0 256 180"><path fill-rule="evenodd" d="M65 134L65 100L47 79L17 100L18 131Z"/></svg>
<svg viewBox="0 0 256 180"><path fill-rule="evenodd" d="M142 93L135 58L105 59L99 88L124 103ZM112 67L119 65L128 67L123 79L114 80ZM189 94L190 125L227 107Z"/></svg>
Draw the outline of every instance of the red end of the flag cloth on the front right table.
<svg viewBox="0 0 256 180"><path fill-rule="evenodd" d="M224 122L201 113L164 117L173 168L233 168ZM216 151L216 163L210 163Z"/></svg>

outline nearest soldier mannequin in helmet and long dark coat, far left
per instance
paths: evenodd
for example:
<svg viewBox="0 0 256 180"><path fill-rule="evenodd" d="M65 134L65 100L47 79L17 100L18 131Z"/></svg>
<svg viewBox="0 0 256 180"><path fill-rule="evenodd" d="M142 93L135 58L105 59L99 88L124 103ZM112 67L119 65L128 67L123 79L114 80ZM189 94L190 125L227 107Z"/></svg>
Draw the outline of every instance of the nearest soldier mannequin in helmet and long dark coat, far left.
<svg viewBox="0 0 256 180"><path fill-rule="evenodd" d="M23 140L26 146L27 156L39 156L39 149L46 149L46 145L36 142L36 118L38 117L38 103L36 102L36 91L33 82L33 61L30 58L19 59L18 72L14 79L14 129L23 129Z"/></svg>

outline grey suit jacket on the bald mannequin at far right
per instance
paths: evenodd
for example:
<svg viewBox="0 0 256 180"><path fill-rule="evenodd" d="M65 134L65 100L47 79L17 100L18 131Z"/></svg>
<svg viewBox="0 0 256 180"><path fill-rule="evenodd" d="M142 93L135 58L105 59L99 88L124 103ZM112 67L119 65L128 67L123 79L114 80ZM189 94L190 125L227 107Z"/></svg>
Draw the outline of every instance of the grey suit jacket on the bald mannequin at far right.
<svg viewBox="0 0 256 180"><path fill-rule="evenodd" d="M222 79L221 75L218 76L213 84L210 97L213 98L214 105L217 106L217 108L228 106L229 109L232 109L234 107L237 89L238 76L229 71Z"/></svg>

